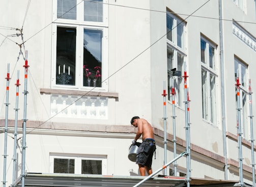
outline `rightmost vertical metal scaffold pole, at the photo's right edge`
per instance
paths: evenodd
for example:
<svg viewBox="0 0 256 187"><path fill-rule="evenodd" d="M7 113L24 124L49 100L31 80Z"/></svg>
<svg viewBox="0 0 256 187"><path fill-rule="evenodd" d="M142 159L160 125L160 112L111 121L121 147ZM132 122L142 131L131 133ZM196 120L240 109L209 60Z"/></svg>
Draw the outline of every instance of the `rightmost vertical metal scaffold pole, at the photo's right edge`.
<svg viewBox="0 0 256 187"><path fill-rule="evenodd" d="M255 187L255 164L254 164L254 139L253 139L253 127L252 127L252 107L251 107L251 80L249 79L249 107L250 107L250 135L251 135L251 168L252 168L252 186Z"/></svg>

